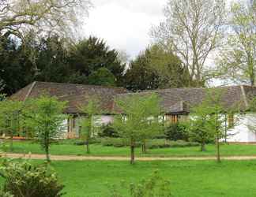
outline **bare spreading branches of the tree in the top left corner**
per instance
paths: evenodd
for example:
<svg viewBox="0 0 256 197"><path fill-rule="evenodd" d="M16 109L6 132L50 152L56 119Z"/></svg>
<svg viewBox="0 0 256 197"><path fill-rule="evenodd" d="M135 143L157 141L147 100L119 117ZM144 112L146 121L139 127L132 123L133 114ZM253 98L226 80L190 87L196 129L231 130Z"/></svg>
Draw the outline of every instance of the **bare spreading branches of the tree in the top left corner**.
<svg viewBox="0 0 256 197"><path fill-rule="evenodd" d="M0 0L0 33L20 39L31 30L70 36L89 6L89 0Z"/></svg>

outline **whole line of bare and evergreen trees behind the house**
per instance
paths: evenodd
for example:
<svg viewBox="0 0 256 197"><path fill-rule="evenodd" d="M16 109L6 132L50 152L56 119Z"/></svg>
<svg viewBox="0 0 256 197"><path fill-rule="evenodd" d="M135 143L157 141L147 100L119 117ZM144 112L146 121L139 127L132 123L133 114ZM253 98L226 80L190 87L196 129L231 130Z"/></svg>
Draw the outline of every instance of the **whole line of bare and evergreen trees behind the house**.
<svg viewBox="0 0 256 197"><path fill-rule="evenodd" d="M43 1L0 4L0 90L7 95L33 80L131 91L204 87L214 79L255 83L255 1L168 0L165 20L150 31L153 43L130 61L103 39L73 39L74 13L83 7L86 15L90 2L46 2L55 9L40 9Z"/></svg>

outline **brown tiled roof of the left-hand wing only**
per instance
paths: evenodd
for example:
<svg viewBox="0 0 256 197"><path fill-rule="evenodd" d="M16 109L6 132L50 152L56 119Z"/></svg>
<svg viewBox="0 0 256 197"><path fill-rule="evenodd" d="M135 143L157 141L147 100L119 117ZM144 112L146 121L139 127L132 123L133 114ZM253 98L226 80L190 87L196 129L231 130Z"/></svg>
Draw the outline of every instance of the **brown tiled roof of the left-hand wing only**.
<svg viewBox="0 0 256 197"><path fill-rule="evenodd" d="M33 82L20 91L17 91L10 99L24 101L34 99L46 94L56 96L59 100L67 101L66 113L80 113L79 107L88 102L88 98L95 97L100 100L104 113L111 113L113 99L116 94L126 93L122 87L102 87L81 84L60 84L50 82Z"/></svg>

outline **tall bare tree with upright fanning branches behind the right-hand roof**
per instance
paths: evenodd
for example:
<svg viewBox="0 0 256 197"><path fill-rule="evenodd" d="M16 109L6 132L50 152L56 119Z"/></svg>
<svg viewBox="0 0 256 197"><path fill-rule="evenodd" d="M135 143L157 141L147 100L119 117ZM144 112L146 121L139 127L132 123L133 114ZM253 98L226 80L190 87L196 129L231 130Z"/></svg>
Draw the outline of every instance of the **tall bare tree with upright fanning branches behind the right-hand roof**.
<svg viewBox="0 0 256 197"><path fill-rule="evenodd" d="M195 86L203 85L208 80L205 61L222 37L224 1L169 0L164 15L166 20L152 28L152 37L181 58Z"/></svg>

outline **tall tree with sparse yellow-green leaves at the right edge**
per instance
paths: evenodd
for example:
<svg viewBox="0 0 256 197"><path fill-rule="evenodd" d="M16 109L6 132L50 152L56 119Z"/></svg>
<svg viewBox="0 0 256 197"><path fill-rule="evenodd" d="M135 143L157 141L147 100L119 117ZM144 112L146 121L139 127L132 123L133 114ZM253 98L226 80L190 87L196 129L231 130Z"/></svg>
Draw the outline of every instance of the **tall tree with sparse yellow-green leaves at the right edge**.
<svg viewBox="0 0 256 197"><path fill-rule="evenodd" d="M231 32L217 59L218 74L235 82L255 85L256 79L256 3L233 2Z"/></svg>

